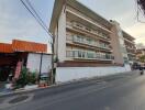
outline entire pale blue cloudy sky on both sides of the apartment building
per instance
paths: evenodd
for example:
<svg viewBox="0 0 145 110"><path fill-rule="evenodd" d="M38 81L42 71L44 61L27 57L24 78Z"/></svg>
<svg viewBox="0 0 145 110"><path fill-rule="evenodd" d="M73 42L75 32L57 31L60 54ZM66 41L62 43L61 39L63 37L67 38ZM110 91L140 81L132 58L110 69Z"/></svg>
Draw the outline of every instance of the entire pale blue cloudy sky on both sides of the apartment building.
<svg viewBox="0 0 145 110"><path fill-rule="evenodd" d="M30 0L35 10L49 26L54 0ZM107 20L115 20L136 43L145 44L145 23L137 22L135 0L79 0ZM142 21L145 16L140 15ZM51 37L22 6L20 0L0 0L0 42L11 43L13 38L47 43Z"/></svg>

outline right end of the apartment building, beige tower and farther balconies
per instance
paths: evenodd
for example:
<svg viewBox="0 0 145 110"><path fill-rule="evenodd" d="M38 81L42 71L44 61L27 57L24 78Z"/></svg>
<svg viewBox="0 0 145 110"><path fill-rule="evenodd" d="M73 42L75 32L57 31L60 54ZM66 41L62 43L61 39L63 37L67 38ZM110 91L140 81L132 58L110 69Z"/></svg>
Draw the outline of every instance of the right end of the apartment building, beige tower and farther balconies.
<svg viewBox="0 0 145 110"><path fill-rule="evenodd" d="M110 22L113 24L111 37L115 62L133 64L135 62L136 52L135 38L123 31L116 21L110 20Z"/></svg>

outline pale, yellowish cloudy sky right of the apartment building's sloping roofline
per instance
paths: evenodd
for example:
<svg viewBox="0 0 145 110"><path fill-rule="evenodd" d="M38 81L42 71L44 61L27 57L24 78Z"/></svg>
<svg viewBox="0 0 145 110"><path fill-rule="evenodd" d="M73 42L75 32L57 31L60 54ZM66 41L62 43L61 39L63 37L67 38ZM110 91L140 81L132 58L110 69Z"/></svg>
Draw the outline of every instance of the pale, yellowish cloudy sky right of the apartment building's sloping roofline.
<svg viewBox="0 0 145 110"><path fill-rule="evenodd" d="M145 44L145 24L141 24L136 19L136 3L134 0L79 0L94 12L105 19L115 20L121 28L136 38L137 43ZM141 20L145 18L140 16Z"/></svg>

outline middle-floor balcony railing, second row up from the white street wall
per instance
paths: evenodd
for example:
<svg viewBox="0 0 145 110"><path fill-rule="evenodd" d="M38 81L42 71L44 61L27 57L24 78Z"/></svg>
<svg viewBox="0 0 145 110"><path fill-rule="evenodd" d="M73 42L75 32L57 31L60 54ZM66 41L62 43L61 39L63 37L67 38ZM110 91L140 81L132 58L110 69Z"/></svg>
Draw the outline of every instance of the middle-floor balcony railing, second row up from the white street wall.
<svg viewBox="0 0 145 110"><path fill-rule="evenodd" d="M96 46L96 47L103 48L103 50L111 50L109 47L109 45L105 44L105 43L100 43L100 42L97 42L92 38L87 38L87 37L83 37L83 36L72 36L72 42L80 43L80 44L86 44L86 45L89 45L89 46Z"/></svg>

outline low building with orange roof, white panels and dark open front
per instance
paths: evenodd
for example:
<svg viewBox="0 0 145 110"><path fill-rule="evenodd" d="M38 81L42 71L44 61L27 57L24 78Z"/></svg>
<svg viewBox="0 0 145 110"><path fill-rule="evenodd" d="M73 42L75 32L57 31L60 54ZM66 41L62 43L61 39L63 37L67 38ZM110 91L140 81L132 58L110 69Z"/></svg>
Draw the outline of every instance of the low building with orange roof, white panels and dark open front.
<svg viewBox="0 0 145 110"><path fill-rule="evenodd" d="M46 44L13 40L12 44L0 43L0 81L5 81L10 74L14 76L18 62L32 73L44 74L52 69L52 55L47 54Z"/></svg>

